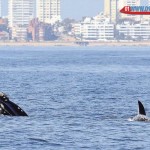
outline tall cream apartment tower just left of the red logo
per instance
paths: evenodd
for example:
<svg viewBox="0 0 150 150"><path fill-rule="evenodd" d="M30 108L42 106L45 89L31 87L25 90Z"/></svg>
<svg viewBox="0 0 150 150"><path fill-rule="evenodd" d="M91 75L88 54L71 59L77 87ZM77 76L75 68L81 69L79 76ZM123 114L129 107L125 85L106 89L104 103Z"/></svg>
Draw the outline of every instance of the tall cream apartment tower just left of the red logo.
<svg viewBox="0 0 150 150"><path fill-rule="evenodd" d="M104 15L116 23L118 14L118 0L104 0Z"/></svg>

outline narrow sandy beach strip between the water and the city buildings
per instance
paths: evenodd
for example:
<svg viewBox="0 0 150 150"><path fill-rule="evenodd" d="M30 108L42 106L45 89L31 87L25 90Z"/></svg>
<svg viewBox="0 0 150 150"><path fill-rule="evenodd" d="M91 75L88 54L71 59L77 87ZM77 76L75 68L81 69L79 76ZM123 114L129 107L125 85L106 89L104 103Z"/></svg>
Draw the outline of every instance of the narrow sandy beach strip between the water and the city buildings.
<svg viewBox="0 0 150 150"><path fill-rule="evenodd" d="M53 41L53 42L0 42L0 46L70 46L80 47L77 41ZM107 41L107 42L89 42L87 47L94 46L150 46L150 41L131 42L131 41Z"/></svg>

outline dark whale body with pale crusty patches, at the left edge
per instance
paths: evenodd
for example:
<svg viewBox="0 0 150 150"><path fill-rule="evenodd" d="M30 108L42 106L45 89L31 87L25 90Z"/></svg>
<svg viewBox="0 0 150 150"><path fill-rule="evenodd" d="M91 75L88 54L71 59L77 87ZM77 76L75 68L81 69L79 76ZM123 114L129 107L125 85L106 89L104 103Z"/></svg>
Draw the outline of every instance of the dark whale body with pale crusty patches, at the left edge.
<svg viewBox="0 0 150 150"><path fill-rule="evenodd" d="M0 114L7 116L28 116L17 104L9 100L8 96L0 92Z"/></svg>

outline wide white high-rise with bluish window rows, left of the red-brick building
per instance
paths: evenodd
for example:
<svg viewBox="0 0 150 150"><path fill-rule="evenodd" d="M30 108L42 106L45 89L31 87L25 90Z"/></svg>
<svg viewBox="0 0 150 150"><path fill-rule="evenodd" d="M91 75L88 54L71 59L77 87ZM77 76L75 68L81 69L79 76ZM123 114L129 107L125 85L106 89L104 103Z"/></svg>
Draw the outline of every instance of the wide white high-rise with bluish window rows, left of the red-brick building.
<svg viewBox="0 0 150 150"><path fill-rule="evenodd" d="M27 27L34 15L33 0L9 0L8 21L12 29L12 39L25 40L27 38Z"/></svg>

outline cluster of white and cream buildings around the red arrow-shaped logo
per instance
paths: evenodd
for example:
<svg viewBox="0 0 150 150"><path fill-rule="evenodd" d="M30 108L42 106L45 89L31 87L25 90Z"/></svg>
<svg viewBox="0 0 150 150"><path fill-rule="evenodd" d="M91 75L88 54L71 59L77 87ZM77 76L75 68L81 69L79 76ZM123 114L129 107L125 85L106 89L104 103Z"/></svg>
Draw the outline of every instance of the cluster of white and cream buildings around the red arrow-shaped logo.
<svg viewBox="0 0 150 150"><path fill-rule="evenodd" d="M144 2L144 3L143 3ZM78 40L150 40L150 15L120 13L124 6L150 6L150 0L104 0L104 12L73 24Z"/></svg>

